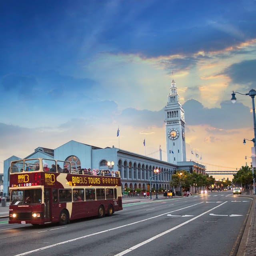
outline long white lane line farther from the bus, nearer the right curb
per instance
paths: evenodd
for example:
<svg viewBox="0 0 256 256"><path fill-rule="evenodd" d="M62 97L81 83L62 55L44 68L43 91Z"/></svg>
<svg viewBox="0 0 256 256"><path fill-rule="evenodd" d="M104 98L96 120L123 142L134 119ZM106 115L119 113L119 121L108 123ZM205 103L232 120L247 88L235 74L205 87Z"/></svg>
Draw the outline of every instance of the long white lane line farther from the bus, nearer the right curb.
<svg viewBox="0 0 256 256"><path fill-rule="evenodd" d="M228 202L228 201L226 201L226 202ZM170 229L168 229L168 230L166 230L166 231L164 231L164 232L162 232L162 233L160 233L160 234L158 234L158 235L156 235L156 236L153 236L152 238L149 238L148 240L146 240L146 241L144 241L144 242L141 242L141 243L139 243L139 244L136 244L135 246L132 246L132 247L130 247L129 249L124 250L124 251L122 251L122 252L120 252L120 253L118 253L118 254L116 254L116 255L114 255L114 256L122 256L122 255L124 255L124 254L129 253L129 252L132 252L133 250L139 248L140 246L143 246L143 245L145 245L145 244L147 244L147 243L149 243L149 242L152 242L153 240L155 240L155 239L157 239L157 238L159 238L159 237L161 237L161 236L164 236L164 235L166 235L166 234L172 232L173 230L176 230L177 228L180 228L180 227L182 227L182 226L188 224L189 222L192 222L193 220L196 220L197 218L203 216L204 214L206 214L206 213L208 213L208 212L210 212L210 211L212 211L212 210L214 210L214 209L216 209L216 208L222 206L223 204L226 204L226 202L224 202L224 203L222 203L222 204L220 204L220 205L218 205L218 206L215 206L214 208L212 208L212 209L210 209L210 210L208 210L208 211L206 211L206 212L203 212L203 213L199 214L198 216L196 216L196 217L194 217L194 218L192 218L192 219L190 219L190 220L187 220L187 221L183 222L182 224L179 224L179 225L177 225L177 226L175 226L175 227L173 227L173 228L170 228Z"/></svg>

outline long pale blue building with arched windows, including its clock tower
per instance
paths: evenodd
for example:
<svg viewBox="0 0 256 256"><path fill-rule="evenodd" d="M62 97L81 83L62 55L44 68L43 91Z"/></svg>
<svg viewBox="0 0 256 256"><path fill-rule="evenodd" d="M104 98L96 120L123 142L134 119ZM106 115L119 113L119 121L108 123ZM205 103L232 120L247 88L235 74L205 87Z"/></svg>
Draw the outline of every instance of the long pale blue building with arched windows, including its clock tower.
<svg viewBox="0 0 256 256"><path fill-rule="evenodd" d="M179 102L175 80L172 80L168 102L165 106L165 135L167 162L122 150L120 148L99 148L71 140L56 149L38 147L26 158L47 158L66 160L72 163L72 168L90 168L108 170L107 162L114 162L113 170L121 174L122 191L131 188L136 191L156 188L159 191L170 190L172 174L176 170L186 170L205 175L205 166L193 161L186 161L185 143L185 112ZM3 195L9 195L10 162L19 160L18 156L11 156L4 160L4 190ZM160 159L162 159L160 155ZM154 170L159 172L156 176Z"/></svg>

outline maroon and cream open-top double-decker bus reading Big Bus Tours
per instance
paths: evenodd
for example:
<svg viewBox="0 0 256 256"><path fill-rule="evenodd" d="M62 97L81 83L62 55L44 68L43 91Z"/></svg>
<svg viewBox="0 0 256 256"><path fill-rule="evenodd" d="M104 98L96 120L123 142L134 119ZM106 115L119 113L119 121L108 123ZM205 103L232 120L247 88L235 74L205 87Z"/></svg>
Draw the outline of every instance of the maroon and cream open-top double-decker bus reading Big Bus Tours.
<svg viewBox="0 0 256 256"><path fill-rule="evenodd" d="M9 223L66 225L122 210L120 172L93 175L71 167L70 162L45 158L12 161Z"/></svg>

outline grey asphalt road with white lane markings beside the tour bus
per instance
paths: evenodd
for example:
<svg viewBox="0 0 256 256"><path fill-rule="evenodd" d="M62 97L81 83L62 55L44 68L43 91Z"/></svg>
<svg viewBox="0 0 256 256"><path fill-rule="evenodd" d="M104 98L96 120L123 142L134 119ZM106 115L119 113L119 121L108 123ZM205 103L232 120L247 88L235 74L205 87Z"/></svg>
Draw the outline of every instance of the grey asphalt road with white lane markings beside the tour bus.
<svg viewBox="0 0 256 256"><path fill-rule="evenodd" d="M158 196L163 198L163 196ZM251 198L217 192L145 200L66 226L0 222L4 256L236 255Z"/></svg>

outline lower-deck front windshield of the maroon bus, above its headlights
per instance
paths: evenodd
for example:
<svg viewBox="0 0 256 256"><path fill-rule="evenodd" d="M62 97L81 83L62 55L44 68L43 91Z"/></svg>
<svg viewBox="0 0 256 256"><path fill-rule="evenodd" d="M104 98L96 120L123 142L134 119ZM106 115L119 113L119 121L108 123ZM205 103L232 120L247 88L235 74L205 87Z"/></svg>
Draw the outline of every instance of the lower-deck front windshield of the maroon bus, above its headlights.
<svg viewBox="0 0 256 256"><path fill-rule="evenodd" d="M12 190L10 204L41 204L42 189Z"/></svg>

